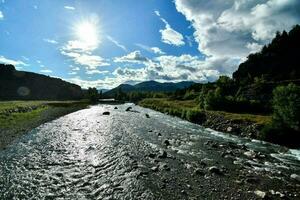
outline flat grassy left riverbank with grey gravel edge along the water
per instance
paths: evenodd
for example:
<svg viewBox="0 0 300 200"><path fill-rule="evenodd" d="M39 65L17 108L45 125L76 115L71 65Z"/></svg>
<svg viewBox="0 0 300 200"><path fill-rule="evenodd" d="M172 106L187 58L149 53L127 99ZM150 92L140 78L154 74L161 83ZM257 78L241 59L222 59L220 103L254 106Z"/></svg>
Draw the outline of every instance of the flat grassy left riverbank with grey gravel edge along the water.
<svg viewBox="0 0 300 200"><path fill-rule="evenodd" d="M0 102L0 149L31 129L88 105L87 101Z"/></svg>

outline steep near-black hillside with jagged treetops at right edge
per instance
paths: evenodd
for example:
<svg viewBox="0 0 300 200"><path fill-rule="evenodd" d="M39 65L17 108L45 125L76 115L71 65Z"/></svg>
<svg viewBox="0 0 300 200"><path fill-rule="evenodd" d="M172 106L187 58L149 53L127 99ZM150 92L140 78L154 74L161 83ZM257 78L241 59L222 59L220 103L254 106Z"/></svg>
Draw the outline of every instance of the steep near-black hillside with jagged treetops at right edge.
<svg viewBox="0 0 300 200"><path fill-rule="evenodd" d="M272 42L240 64L233 78L242 85L257 80L278 82L300 79L300 26L277 32Z"/></svg>

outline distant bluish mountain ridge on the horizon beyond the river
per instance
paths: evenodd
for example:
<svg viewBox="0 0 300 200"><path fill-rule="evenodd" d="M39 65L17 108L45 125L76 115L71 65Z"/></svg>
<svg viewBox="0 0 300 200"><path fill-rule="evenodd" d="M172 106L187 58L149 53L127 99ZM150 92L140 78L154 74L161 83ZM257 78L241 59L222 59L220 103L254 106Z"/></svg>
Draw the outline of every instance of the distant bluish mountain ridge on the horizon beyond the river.
<svg viewBox="0 0 300 200"><path fill-rule="evenodd" d="M157 81L145 81L136 85L121 84L104 93L106 97L114 97L118 92L174 92L178 89L184 89L195 84L192 81L182 81L178 83L166 82L160 83Z"/></svg>

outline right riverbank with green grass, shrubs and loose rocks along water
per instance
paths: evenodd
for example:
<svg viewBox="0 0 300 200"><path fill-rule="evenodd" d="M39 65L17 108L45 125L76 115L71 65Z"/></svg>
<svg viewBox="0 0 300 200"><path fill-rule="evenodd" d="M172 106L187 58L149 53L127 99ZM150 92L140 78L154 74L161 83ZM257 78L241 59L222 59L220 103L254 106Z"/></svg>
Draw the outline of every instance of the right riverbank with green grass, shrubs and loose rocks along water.
<svg viewBox="0 0 300 200"><path fill-rule="evenodd" d="M217 131L243 137L262 139L262 128L270 123L271 116L229 113L222 111L203 111L194 100L171 100L166 98L148 98L138 103L162 113L177 116L193 123Z"/></svg>

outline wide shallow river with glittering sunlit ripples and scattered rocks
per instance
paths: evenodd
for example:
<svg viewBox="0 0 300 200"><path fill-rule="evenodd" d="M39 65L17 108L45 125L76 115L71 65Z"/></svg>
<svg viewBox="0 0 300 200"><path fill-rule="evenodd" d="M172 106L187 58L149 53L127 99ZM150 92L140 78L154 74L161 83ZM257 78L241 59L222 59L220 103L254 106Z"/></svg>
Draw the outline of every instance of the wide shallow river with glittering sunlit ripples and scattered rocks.
<svg viewBox="0 0 300 200"><path fill-rule="evenodd" d="M0 199L300 198L290 177L300 174L299 150L114 107L45 123L0 151Z"/></svg>

